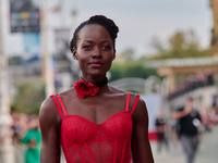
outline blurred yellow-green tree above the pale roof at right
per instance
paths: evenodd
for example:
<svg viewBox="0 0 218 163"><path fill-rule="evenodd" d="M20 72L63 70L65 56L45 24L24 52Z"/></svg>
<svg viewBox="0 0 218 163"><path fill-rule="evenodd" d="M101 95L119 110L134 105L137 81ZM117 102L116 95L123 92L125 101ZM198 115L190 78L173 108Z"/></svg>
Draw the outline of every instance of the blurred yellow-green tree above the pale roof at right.
<svg viewBox="0 0 218 163"><path fill-rule="evenodd" d="M152 40L152 47L155 50L155 53L150 57L153 60L209 55L209 50L201 47L197 35L193 29L187 32L177 32L168 39L166 45L157 37L154 37Z"/></svg>

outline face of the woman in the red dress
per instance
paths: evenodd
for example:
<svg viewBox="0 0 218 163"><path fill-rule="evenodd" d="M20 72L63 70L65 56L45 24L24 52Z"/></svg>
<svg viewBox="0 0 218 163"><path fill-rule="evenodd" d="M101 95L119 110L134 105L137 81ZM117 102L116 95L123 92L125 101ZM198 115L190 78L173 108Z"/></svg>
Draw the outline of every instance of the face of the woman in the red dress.
<svg viewBox="0 0 218 163"><path fill-rule="evenodd" d="M83 78L104 78L116 58L113 40L108 30L101 25L86 25L81 29L76 43L73 57L77 59Z"/></svg>

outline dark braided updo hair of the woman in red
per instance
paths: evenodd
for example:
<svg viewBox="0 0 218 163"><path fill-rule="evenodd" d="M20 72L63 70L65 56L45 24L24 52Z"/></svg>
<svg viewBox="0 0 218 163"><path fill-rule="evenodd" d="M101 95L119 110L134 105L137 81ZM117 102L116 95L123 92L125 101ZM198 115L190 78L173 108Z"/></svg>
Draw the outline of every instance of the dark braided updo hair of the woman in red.
<svg viewBox="0 0 218 163"><path fill-rule="evenodd" d="M78 27L75 29L74 34L73 34L73 38L70 41L70 50L71 52L73 52L74 49L77 48L76 46L76 41L78 39L78 33L80 30L88 24L98 24L98 25L102 25L108 33L110 34L110 36L112 37L113 40L113 48L116 49L116 38L118 37L118 32L119 28L118 26L114 24L114 22L104 15L95 15L92 16L88 21L85 21L83 23L81 23L81 25L78 25Z"/></svg>

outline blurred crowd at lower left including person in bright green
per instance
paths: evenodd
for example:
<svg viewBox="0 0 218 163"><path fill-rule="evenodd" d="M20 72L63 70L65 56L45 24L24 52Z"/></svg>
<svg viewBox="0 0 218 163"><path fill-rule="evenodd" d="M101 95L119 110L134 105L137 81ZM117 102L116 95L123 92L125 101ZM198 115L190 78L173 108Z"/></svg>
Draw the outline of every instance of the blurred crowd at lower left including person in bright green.
<svg viewBox="0 0 218 163"><path fill-rule="evenodd" d="M12 137L15 163L40 163L41 135L38 115L11 111L11 117L12 126L4 137Z"/></svg>

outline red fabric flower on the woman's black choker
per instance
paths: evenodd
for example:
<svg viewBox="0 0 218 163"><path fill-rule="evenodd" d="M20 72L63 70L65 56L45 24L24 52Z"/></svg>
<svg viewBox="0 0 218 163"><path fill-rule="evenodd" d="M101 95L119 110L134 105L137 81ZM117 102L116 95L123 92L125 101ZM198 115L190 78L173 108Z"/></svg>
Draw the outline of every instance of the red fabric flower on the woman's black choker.
<svg viewBox="0 0 218 163"><path fill-rule="evenodd" d="M86 80L78 80L74 84L75 91L77 97L84 99L87 96L94 97L98 92L98 86L86 82Z"/></svg>

